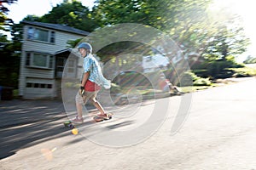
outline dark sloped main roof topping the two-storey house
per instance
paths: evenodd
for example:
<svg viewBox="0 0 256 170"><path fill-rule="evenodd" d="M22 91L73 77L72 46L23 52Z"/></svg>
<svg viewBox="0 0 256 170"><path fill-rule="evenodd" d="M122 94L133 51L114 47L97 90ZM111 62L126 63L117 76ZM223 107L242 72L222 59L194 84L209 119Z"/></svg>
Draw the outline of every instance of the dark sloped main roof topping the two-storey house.
<svg viewBox="0 0 256 170"><path fill-rule="evenodd" d="M71 26L65 26L65 25L61 25L61 24L50 24L50 23L27 21L27 20L23 20L23 21L21 21L21 23L26 24L26 25L32 25L32 26L40 26L40 27L44 27L44 28L57 30L57 31L66 31L66 32L74 33L74 34L79 34L82 36L88 36L90 34L90 32L88 32L88 31L82 31L82 30L73 28Z"/></svg>

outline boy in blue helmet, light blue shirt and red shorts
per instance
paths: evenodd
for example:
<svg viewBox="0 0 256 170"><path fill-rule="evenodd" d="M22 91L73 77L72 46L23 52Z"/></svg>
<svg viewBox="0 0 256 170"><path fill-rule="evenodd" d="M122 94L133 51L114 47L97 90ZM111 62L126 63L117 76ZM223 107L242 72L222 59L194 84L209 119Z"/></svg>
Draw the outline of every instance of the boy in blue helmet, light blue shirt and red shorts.
<svg viewBox="0 0 256 170"><path fill-rule="evenodd" d="M77 116L72 120L74 123L83 123L82 105L85 105L88 100L100 112L99 115L109 119L108 113L103 109L102 105L96 99L101 88L109 89L111 87L110 80L107 80L102 74L102 68L96 58L92 54L92 47L90 43L81 42L78 46L79 53L83 57L83 72L79 92L75 97ZM100 118L96 118L100 120Z"/></svg>

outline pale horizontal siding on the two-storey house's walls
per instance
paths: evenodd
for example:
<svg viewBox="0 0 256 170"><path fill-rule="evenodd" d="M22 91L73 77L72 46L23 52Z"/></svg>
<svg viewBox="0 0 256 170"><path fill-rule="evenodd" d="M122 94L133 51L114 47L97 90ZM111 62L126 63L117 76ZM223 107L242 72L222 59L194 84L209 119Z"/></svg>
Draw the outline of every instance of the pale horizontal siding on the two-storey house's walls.
<svg viewBox="0 0 256 170"><path fill-rule="evenodd" d="M19 95L23 99L54 99L60 95L61 81L55 80L55 67L52 69L34 68L26 66L26 53L38 52L54 56L55 52L67 48L67 41L83 38L83 35L75 33L56 31L55 29L44 28L40 26L32 26L34 28L44 29L47 31L55 31L55 42L39 42L27 39L27 30L30 25L23 27L23 44L20 59L20 78L19 78ZM55 63L53 63L55 65ZM51 88L31 88L27 87L27 83L51 84Z"/></svg>

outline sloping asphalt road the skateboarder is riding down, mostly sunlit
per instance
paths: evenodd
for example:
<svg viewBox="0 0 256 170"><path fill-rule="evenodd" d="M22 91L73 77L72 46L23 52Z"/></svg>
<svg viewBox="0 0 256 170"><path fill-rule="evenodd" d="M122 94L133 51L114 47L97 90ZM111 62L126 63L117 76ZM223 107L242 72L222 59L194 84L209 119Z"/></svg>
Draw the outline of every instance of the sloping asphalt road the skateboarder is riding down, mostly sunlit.
<svg viewBox="0 0 256 170"><path fill-rule="evenodd" d="M186 96L119 107L113 120L88 121L79 127L78 135L62 127L65 114L41 108L52 113L45 119L48 122L38 119L0 127L0 169L256 169L256 79L238 80L184 94L192 98L185 100L189 110L181 116L185 119L177 133L171 129ZM1 109L1 114L9 111L8 106ZM161 111L167 113L164 120L145 121L165 114ZM148 133L154 130L151 127L157 127L154 133ZM136 133L137 128L143 130ZM120 134L130 136L117 138Z"/></svg>

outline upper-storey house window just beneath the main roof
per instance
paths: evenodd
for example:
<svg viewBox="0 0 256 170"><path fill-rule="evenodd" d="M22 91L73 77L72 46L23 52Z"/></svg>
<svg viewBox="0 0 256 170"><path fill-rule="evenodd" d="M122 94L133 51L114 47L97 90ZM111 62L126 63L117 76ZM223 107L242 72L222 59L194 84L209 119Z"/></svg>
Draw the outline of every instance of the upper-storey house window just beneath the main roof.
<svg viewBox="0 0 256 170"><path fill-rule="evenodd" d="M27 39L55 43L55 31L29 27L27 30Z"/></svg>

